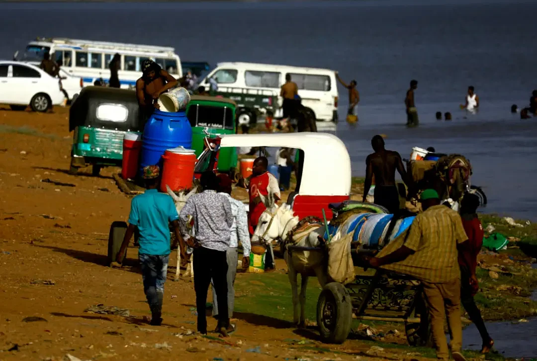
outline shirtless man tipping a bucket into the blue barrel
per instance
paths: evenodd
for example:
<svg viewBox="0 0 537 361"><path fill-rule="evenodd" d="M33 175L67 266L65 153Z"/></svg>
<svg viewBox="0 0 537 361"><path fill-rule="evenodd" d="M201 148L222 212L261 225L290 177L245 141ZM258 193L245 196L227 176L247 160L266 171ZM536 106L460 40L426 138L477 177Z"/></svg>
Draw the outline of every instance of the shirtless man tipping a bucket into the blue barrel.
<svg viewBox="0 0 537 361"><path fill-rule="evenodd" d="M177 79L168 71L152 60L144 60L142 63L142 77L136 80L136 96L138 104L147 115L153 114L158 108L156 100L159 95L165 93L177 85Z"/></svg>

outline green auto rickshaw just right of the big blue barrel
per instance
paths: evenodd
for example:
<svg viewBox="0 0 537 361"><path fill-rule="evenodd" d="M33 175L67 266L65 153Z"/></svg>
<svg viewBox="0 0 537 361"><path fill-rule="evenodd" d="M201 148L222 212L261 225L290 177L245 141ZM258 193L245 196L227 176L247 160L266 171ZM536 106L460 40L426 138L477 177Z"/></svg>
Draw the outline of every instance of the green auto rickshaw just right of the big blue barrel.
<svg viewBox="0 0 537 361"><path fill-rule="evenodd" d="M205 137L217 134L235 134L236 104L227 98L191 95L186 107L186 116L192 126L192 149L197 157L205 149ZM235 148L223 148L218 156L220 173L235 174L237 151Z"/></svg>

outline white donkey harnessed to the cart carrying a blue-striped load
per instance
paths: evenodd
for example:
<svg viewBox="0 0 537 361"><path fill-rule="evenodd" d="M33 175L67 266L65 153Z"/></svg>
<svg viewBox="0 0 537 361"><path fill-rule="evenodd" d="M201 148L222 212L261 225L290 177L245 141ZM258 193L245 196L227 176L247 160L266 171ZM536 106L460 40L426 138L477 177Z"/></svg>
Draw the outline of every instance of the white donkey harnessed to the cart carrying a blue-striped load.
<svg viewBox="0 0 537 361"><path fill-rule="evenodd" d="M255 233L252 236L252 242L272 242L281 238L282 242L287 245L298 247L316 248L321 245L318 235L323 235L322 227L309 227L309 229L297 232L293 240L288 239L289 231L294 230L299 223L299 217L294 215L293 210L287 204L278 205L267 200L262 195L263 203L267 209L259 217L259 223ZM316 228L316 230L314 230ZM289 249L286 246L285 262L287 263L289 282L291 283L293 298L293 323L295 326L303 328L306 322L306 288L309 276L317 276L321 287L324 287L328 279L326 271L325 254L321 251L307 251L300 249ZM300 298L298 293L297 275L301 276ZM300 301L300 317L299 317Z"/></svg>

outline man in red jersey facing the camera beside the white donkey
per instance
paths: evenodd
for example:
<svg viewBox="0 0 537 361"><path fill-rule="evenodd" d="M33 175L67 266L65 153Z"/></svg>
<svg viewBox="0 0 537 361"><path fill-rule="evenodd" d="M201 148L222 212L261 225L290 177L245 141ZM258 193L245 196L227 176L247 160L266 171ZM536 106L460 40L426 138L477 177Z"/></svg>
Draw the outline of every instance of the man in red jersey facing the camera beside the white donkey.
<svg viewBox="0 0 537 361"><path fill-rule="evenodd" d="M251 234L255 232L257 224L259 223L259 217L267 209L266 205L262 202L259 195L263 195L265 198L274 199L274 202L280 200L280 188L278 186L278 180L267 171L269 167L269 160L265 157L256 158L253 161L252 178L248 185L248 193L250 195L250 211L248 212L248 225ZM269 254L267 254L267 260L265 265L267 268L274 268L274 254L272 252L272 245L269 246Z"/></svg>

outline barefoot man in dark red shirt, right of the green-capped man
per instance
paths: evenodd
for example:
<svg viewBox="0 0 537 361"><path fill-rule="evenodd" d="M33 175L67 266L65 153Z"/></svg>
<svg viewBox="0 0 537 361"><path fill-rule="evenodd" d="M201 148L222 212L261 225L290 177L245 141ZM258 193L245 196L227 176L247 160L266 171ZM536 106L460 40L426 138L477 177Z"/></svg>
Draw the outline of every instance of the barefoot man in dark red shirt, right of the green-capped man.
<svg viewBox="0 0 537 361"><path fill-rule="evenodd" d="M477 255L483 245L483 226L477 217L477 207L479 207L479 198L475 194L466 194L461 203L462 225L468 236L469 247L459 253L459 267L461 269L461 304L465 308L474 322L483 340L481 353L487 353L492 349L494 341L490 337L487 327L481 317L481 312L474 301L474 296L479 290L477 281L471 281L471 276L475 276L477 267ZM462 252L466 253L461 254ZM470 261L469 267L463 261L463 257ZM474 280L477 278L474 277Z"/></svg>

